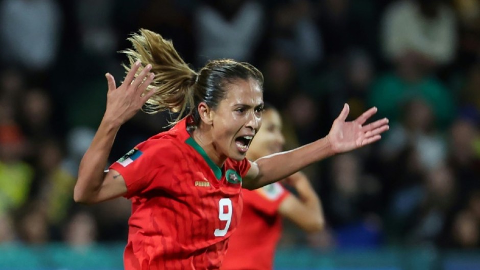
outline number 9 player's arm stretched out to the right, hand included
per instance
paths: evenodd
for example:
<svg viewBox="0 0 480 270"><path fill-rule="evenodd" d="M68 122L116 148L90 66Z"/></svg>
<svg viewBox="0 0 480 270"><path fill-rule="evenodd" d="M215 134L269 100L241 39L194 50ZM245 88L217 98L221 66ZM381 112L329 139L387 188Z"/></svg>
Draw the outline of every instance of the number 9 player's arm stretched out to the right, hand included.
<svg viewBox="0 0 480 270"><path fill-rule="evenodd" d="M383 118L364 125L377 108L373 107L353 121L346 122L350 108L345 104L339 117L333 121L330 132L324 138L291 151L273 154L251 162L244 180L244 187L256 189L290 176L302 168L333 156L348 152L381 138L389 129L388 119Z"/></svg>

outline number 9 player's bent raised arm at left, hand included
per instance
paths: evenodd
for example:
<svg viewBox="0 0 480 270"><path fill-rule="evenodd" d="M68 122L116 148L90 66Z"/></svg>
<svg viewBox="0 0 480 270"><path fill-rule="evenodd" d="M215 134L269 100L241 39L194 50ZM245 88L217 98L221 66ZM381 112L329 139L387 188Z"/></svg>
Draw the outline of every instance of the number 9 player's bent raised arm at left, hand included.
<svg viewBox="0 0 480 270"><path fill-rule="evenodd" d="M74 200L79 203L98 203L119 197L127 192L124 179L116 171L104 173L113 141L119 128L147 102L154 90L145 93L153 80L148 65L135 78L140 67L137 62L128 72L125 81L116 88L110 73L108 81L107 108L97 133L83 156L74 189Z"/></svg>

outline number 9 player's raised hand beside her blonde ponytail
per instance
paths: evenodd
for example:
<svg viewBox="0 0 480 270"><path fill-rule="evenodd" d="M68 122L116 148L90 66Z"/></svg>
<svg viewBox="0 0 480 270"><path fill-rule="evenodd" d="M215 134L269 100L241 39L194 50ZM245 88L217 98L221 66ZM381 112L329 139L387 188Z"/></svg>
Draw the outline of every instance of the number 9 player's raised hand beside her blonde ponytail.
<svg viewBox="0 0 480 270"><path fill-rule="evenodd" d="M154 79L154 74L149 72L152 66L148 64L135 78L139 67L140 62L135 62L127 73L125 81L118 88L116 87L113 76L110 73L106 73L108 93L107 109L104 115L105 121L109 121L118 127L123 125L132 118L155 93L155 88L145 92Z"/></svg>

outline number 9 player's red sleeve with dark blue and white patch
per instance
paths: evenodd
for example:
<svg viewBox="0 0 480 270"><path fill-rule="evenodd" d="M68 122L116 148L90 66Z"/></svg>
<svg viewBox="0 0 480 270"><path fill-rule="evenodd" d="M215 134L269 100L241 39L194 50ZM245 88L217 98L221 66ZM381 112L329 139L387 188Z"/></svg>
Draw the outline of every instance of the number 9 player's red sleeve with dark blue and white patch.
<svg viewBox="0 0 480 270"><path fill-rule="evenodd" d="M172 171L180 159L179 151L170 140L145 141L110 165L127 185L125 197L159 189L172 179Z"/></svg>

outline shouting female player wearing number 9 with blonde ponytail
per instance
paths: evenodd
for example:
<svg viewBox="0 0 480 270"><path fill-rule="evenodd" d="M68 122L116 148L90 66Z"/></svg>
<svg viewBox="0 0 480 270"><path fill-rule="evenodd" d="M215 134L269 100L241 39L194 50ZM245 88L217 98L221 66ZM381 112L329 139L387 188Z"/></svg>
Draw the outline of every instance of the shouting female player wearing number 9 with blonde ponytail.
<svg viewBox="0 0 480 270"><path fill-rule="evenodd" d="M132 201L125 269L219 269L242 213L242 186L255 189L284 179L377 141L388 129L387 119L364 125L376 108L346 122L345 105L326 137L250 162L245 155L263 109L260 71L216 60L197 73L156 33L140 30L130 41L125 81L117 88L106 75L107 108L74 190L77 202L119 196ZM139 143L104 173L115 134L144 104L150 112L188 116Z"/></svg>

